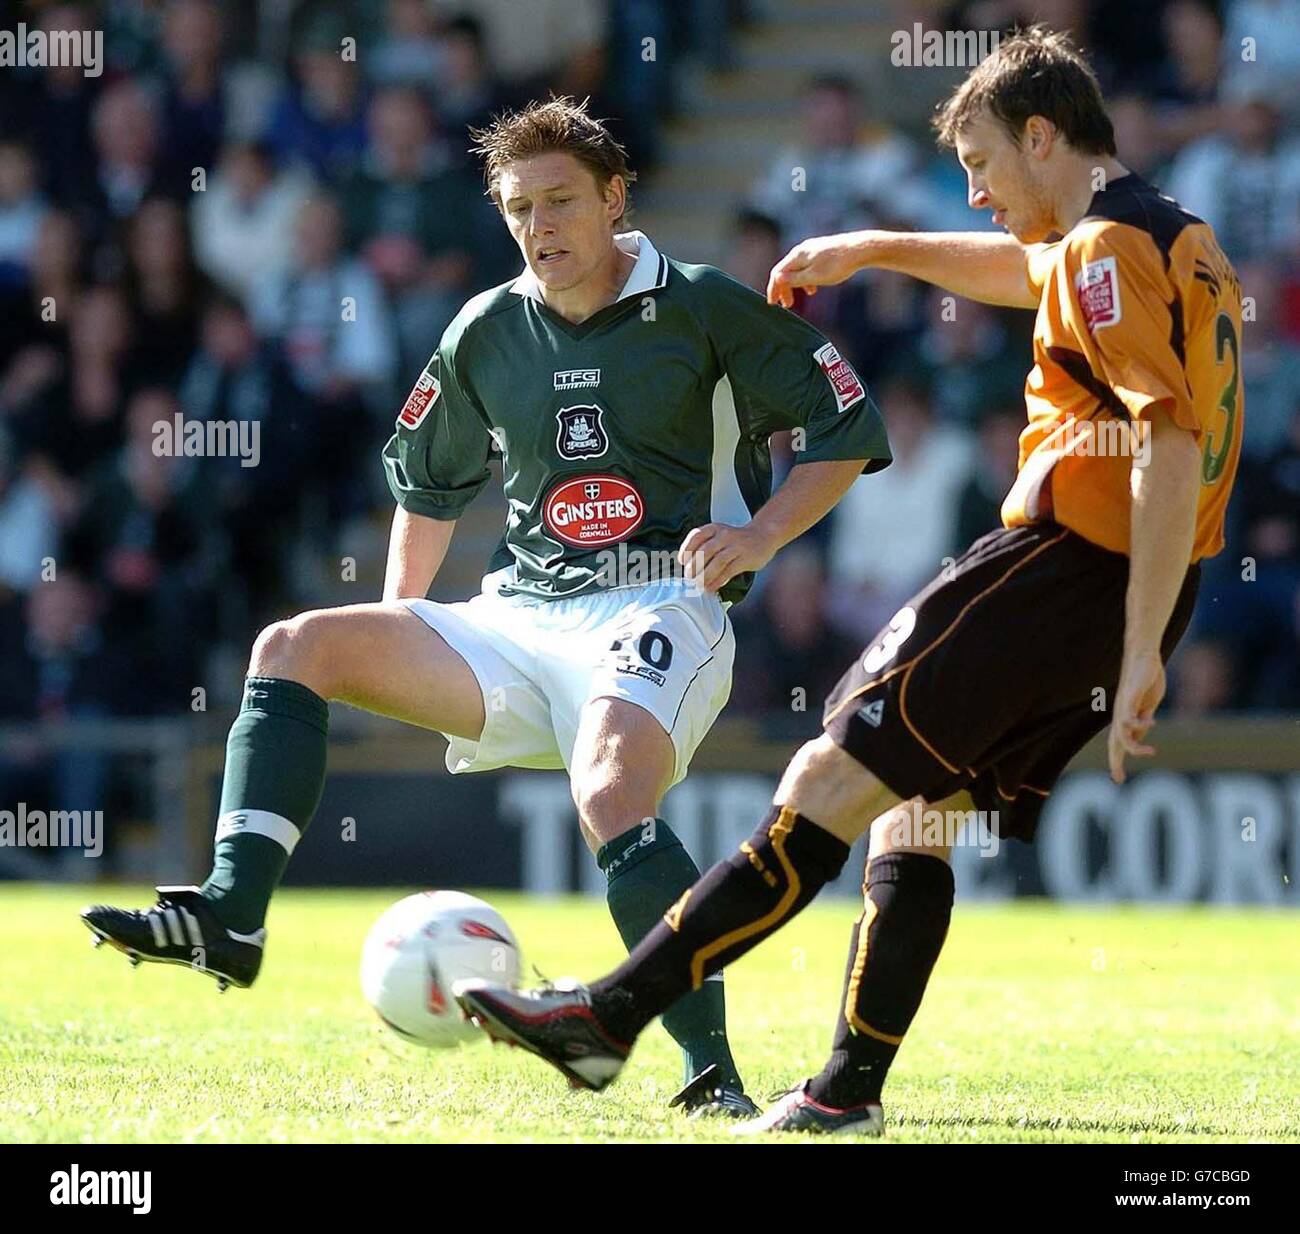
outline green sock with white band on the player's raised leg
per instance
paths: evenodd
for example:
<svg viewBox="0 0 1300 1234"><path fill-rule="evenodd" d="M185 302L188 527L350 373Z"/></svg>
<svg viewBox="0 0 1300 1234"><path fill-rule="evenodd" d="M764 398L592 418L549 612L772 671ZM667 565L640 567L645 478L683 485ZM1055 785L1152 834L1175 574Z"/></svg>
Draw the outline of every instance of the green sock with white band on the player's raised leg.
<svg viewBox="0 0 1300 1234"><path fill-rule="evenodd" d="M315 690L280 677L248 677L226 739L216 857L200 891L228 930L266 919L294 845L325 785L329 707Z"/></svg>

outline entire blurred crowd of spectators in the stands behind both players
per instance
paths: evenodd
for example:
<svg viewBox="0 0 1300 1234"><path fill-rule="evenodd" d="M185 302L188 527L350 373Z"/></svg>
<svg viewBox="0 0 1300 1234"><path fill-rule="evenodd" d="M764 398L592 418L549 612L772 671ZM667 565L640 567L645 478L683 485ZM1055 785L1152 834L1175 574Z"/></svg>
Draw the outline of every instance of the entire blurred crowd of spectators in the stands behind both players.
<svg viewBox="0 0 1300 1234"><path fill-rule="evenodd" d="M465 126L547 88L592 95L653 179L670 66L725 64L741 9L30 5L30 25L103 29L107 64L0 72L0 722L166 715L196 684L237 690L256 629L321 602L304 558L337 563L350 527L386 527L377 451L396 400L459 306L516 270ZM1300 707L1300 0L948 14L1026 18L1091 49L1121 159L1216 226L1256 306L1228 550L1174 703ZM1273 68L1242 60L1252 35ZM737 277L760 287L809 234L984 225L952 156L874 114L857 81L810 77L802 108L800 144L737 203ZM754 714L789 715L800 688L815 714L862 641L997 523L1023 420L1026 313L953 315L887 274L801 311L867 378L896 463L737 610L734 706ZM257 424L259 466L160 455L177 416Z"/></svg>

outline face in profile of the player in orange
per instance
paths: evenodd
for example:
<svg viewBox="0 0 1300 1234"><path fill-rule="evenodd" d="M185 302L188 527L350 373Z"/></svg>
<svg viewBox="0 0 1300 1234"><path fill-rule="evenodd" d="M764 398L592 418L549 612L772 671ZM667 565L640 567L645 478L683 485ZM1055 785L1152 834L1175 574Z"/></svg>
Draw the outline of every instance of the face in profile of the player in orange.
<svg viewBox="0 0 1300 1234"><path fill-rule="evenodd" d="M1045 121L1031 117L1019 142L987 112L957 134L957 159L966 172L972 209L993 211L993 222L1022 244L1036 244L1053 230L1050 199L1044 191ZM1050 126L1046 126L1050 129Z"/></svg>

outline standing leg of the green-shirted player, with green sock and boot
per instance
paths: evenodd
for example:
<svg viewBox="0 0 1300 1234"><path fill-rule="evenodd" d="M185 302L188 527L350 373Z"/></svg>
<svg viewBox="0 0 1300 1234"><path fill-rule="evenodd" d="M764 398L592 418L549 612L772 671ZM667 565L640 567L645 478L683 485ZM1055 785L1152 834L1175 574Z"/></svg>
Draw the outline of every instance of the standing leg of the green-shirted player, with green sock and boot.
<svg viewBox="0 0 1300 1234"><path fill-rule="evenodd" d="M672 740L644 707L595 698L584 709L572 757L573 801L608 880L610 915L629 951L699 878L690 853L659 817L675 759ZM727 1042L722 974L666 1010L663 1026L681 1047L685 1066L686 1087L675 1104L692 1113L758 1113Z"/></svg>

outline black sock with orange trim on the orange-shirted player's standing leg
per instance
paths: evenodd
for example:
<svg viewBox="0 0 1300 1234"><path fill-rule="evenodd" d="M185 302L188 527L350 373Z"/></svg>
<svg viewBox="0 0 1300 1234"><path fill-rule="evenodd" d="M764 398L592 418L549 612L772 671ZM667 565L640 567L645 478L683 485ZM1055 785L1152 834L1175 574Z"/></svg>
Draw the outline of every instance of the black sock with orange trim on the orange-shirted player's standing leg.
<svg viewBox="0 0 1300 1234"><path fill-rule="evenodd" d="M953 871L926 853L885 853L867 865L853 927L831 1058L809 1096L845 1109L879 1101L953 915Z"/></svg>

